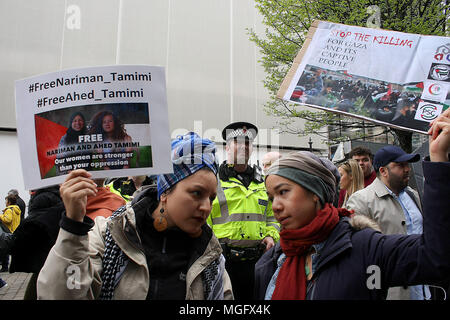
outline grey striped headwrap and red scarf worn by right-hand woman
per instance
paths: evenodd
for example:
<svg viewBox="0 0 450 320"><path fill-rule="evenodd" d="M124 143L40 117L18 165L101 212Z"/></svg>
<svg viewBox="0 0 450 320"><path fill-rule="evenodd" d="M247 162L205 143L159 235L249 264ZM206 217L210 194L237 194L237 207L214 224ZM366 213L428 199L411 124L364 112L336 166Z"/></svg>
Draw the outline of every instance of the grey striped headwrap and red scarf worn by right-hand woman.
<svg viewBox="0 0 450 320"><path fill-rule="evenodd" d="M280 232L280 245L286 260L276 280L273 300L306 298L305 259L311 246L325 241L339 218L352 213L343 208L335 208L336 184L340 180L339 171L328 159L319 158L311 152L290 153L274 162L267 176L274 174L294 181L316 194L322 202L322 209L307 225Z"/></svg>

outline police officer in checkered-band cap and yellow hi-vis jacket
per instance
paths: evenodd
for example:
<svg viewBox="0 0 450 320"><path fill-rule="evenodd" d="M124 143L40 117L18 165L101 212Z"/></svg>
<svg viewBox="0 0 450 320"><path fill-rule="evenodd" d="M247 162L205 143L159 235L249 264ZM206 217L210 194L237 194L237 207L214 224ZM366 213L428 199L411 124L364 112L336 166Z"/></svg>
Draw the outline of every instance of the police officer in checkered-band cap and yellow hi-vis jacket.
<svg viewBox="0 0 450 320"><path fill-rule="evenodd" d="M248 122L223 129L227 160L220 165L217 197L207 220L222 245L236 300L253 299L255 263L279 240L280 226L261 169L248 164L257 133Z"/></svg>

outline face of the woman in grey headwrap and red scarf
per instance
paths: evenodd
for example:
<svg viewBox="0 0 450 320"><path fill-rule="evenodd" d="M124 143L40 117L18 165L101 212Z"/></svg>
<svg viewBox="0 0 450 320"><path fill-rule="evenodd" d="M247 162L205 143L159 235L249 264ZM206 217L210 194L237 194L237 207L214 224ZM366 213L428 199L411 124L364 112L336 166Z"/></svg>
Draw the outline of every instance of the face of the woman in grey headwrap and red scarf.
<svg viewBox="0 0 450 320"><path fill-rule="evenodd" d="M275 218L284 229L299 229L308 225L320 209L319 198L315 194L289 179L269 175L266 189Z"/></svg>

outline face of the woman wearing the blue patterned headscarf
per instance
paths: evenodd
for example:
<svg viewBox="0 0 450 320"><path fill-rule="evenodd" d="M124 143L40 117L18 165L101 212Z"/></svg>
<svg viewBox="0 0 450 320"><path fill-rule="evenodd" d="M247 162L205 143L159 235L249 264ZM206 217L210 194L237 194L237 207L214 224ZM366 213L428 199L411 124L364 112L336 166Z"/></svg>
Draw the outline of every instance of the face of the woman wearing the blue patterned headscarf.
<svg viewBox="0 0 450 320"><path fill-rule="evenodd" d="M208 169L202 169L178 182L167 194L161 195L168 226L177 226L197 237L211 213L216 198L217 179Z"/></svg>

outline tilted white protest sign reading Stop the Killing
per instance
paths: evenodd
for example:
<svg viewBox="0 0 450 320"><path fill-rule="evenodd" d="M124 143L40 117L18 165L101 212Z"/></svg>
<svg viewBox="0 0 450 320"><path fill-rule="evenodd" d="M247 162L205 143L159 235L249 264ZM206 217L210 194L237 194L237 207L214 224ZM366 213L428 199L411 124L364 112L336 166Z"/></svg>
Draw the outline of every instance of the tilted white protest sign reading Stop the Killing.
<svg viewBox="0 0 450 320"><path fill-rule="evenodd" d="M277 97L426 133L449 85L449 37L314 21Z"/></svg>

